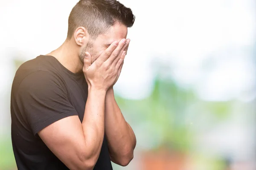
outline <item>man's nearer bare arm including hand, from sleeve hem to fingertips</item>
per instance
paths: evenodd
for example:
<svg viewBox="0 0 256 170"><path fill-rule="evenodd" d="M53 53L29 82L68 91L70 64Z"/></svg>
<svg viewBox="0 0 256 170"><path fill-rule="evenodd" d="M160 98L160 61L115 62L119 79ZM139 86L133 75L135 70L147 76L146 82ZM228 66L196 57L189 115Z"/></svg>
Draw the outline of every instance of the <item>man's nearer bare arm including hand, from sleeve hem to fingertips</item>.
<svg viewBox="0 0 256 170"><path fill-rule="evenodd" d="M113 42L93 64L90 54L84 57L88 99L82 123L78 116L70 116L38 132L47 147L72 170L92 170L99 157L104 137L105 94L118 76L115 68L123 60L116 55L122 48L121 43L117 44Z"/></svg>

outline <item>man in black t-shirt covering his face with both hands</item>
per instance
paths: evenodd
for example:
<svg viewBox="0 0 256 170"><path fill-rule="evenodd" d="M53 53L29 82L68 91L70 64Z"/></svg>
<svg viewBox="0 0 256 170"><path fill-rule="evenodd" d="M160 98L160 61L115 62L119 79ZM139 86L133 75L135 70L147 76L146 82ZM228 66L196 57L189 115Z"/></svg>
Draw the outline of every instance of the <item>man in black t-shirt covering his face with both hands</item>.
<svg viewBox="0 0 256 170"><path fill-rule="evenodd" d="M116 104L134 15L116 0L80 0L67 40L25 62L11 94L12 145L19 170L111 170L126 166L136 138Z"/></svg>

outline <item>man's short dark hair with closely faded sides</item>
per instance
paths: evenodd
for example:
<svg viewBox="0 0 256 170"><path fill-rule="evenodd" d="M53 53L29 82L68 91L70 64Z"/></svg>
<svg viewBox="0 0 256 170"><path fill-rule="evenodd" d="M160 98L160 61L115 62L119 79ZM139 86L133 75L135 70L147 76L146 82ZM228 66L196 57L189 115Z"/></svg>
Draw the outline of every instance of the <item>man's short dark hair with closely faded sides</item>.
<svg viewBox="0 0 256 170"><path fill-rule="evenodd" d="M92 38L96 38L116 22L131 27L134 20L131 8L117 0L80 0L68 18L67 40L72 38L76 28L80 26L86 28Z"/></svg>

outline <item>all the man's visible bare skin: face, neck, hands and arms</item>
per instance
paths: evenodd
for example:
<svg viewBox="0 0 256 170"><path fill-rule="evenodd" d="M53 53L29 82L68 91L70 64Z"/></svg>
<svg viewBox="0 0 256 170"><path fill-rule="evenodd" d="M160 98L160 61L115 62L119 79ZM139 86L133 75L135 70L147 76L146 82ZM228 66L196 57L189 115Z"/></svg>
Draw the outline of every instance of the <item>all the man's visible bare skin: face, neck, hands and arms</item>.
<svg viewBox="0 0 256 170"><path fill-rule="evenodd" d="M47 147L72 170L93 169L104 132L113 162L126 166L133 159L136 138L113 93L130 42L126 36L127 27L120 23L95 40L79 27L71 40L47 54L73 73L83 71L88 84L82 123L78 116L70 116L38 132Z"/></svg>

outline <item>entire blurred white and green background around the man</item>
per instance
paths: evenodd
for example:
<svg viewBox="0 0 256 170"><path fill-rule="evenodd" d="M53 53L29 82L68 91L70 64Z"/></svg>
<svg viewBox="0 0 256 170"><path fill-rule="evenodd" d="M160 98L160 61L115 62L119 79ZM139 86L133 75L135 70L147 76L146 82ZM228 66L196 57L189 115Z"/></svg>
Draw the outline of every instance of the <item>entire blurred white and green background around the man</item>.
<svg viewBox="0 0 256 170"><path fill-rule="evenodd" d="M127 167L113 169L255 170L256 3L120 2L136 22L114 90L137 147ZM58 13L51 10L59 3ZM15 71L65 40L75 3L0 0L0 170L17 169L9 111Z"/></svg>

